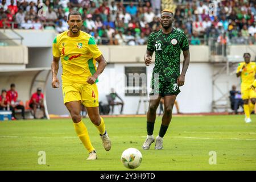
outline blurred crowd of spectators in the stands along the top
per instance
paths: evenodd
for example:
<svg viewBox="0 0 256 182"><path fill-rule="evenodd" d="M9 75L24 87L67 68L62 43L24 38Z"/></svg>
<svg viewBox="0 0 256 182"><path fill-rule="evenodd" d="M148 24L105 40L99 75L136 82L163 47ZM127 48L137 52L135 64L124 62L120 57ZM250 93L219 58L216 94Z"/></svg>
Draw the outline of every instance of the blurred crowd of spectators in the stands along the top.
<svg viewBox="0 0 256 182"><path fill-rule="evenodd" d="M174 27L188 36L190 44L207 43L209 38L224 44L256 44L254 1L175 2ZM160 9L160 0L0 0L0 28L16 22L14 28L63 32L68 30L68 13L78 10L84 20L82 31L94 36L97 44L143 45L161 28Z"/></svg>

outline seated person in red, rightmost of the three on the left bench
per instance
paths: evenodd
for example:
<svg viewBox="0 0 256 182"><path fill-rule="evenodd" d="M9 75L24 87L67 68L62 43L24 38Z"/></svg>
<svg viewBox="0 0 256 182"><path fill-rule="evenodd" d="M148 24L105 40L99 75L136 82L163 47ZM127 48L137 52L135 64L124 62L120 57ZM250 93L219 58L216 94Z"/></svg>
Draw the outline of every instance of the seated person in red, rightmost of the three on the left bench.
<svg viewBox="0 0 256 182"><path fill-rule="evenodd" d="M36 89L36 92L32 94L30 98L30 108L34 110L34 118L36 119L36 109L40 108L43 111L44 116L42 119L46 117L46 110L44 109L44 94L42 93L42 89Z"/></svg>

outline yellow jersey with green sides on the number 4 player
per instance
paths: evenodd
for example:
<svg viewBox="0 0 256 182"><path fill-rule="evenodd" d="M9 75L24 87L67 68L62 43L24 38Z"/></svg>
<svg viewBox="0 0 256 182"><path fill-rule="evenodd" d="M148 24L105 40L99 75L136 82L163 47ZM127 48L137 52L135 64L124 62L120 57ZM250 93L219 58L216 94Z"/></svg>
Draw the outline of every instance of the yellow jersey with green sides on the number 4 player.
<svg viewBox="0 0 256 182"><path fill-rule="evenodd" d="M57 35L53 40L52 55L61 58L61 78L64 83L86 84L87 78L96 72L95 59L102 53L91 35L80 31L79 36L71 38L68 31Z"/></svg>

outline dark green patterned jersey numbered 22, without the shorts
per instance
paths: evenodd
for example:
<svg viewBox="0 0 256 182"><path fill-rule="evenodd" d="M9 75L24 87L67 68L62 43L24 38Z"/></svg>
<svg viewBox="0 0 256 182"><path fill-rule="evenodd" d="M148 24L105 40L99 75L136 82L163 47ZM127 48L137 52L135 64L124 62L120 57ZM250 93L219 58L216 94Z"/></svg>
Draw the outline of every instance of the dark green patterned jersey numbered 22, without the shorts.
<svg viewBox="0 0 256 182"><path fill-rule="evenodd" d="M148 38L147 50L155 51L155 67L153 73L158 73L160 80L169 81L180 75L180 52L189 49L187 36L172 28L170 34L162 30L153 32Z"/></svg>

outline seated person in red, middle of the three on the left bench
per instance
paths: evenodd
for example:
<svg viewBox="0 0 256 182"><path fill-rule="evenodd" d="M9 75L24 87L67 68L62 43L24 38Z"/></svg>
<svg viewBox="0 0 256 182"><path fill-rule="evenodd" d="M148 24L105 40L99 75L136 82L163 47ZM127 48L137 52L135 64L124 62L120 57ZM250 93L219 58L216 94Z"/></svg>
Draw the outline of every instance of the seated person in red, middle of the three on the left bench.
<svg viewBox="0 0 256 182"><path fill-rule="evenodd" d="M8 104L10 105L10 108L13 107L15 109L21 109L22 110L22 118L25 119L25 107L20 104L18 101L18 92L15 90L15 84L11 84L11 89L7 91L6 97L8 98ZM13 110L13 117L15 117L15 112Z"/></svg>

